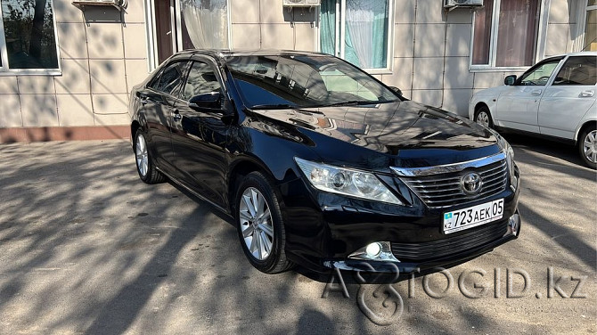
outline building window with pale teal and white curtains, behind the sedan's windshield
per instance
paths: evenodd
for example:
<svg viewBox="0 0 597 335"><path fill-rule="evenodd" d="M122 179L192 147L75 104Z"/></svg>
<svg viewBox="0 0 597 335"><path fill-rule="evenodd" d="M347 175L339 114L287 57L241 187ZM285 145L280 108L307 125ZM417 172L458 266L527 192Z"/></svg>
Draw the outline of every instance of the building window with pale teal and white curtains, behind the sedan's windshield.
<svg viewBox="0 0 597 335"><path fill-rule="evenodd" d="M391 0L323 0L320 48L363 69L389 69Z"/></svg>

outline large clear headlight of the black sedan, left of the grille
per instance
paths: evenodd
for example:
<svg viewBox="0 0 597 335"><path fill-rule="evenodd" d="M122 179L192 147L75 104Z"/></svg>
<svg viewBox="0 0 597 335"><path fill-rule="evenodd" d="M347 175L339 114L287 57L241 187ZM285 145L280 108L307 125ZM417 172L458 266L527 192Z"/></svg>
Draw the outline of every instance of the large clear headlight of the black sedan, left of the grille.
<svg viewBox="0 0 597 335"><path fill-rule="evenodd" d="M318 190L397 205L402 201L373 174L295 158L308 181Z"/></svg>

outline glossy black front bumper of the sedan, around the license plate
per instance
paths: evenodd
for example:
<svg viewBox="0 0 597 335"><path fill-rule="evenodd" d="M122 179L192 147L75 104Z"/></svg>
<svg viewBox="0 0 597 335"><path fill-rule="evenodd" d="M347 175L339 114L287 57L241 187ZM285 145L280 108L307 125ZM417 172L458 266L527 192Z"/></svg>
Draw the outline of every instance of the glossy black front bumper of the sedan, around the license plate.
<svg viewBox="0 0 597 335"><path fill-rule="evenodd" d="M446 210L428 208L414 194L411 206L396 206L317 192L302 180L281 187L282 217L286 230L286 253L293 262L311 270L330 269L408 274L438 266L448 266L491 251L517 238L508 228L510 217L518 213L519 187L506 187L495 196ZM405 194L405 192L402 192ZM445 211L475 206L491 200L504 200L503 218L462 232L445 235L441 228ZM492 231L489 236L488 231ZM480 243L470 239L487 235ZM460 240L459 243L452 243ZM349 255L374 241L389 241L399 262L351 259ZM421 253L412 251L421 247ZM403 248L404 247L404 248ZM405 248L411 249L405 249ZM425 250L429 247L430 250ZM435 252L438 248L448 252ZM429 254L431 256L429 256Z"/></svg>

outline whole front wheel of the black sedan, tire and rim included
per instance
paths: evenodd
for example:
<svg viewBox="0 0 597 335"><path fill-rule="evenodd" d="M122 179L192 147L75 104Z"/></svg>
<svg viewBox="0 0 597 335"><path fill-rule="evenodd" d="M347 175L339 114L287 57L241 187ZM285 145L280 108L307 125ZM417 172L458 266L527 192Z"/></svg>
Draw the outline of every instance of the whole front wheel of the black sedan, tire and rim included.
<svg viewBox="0 0 597 335"><path fill-rule="evenodd" d="M266 274L289 270L282 212L266 176L259 172L245 176L234 204L237 232L249 263Z"/></svg>

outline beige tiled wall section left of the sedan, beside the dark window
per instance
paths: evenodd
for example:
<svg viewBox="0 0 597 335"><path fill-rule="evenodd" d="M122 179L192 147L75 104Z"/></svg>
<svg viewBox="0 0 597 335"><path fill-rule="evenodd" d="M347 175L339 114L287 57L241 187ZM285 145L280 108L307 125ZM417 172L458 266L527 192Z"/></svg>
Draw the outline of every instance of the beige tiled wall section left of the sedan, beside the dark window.
<svg viewBox="0 0 597 335"><path fill-rule="evenodd" d="M61 75L0 73L0 127L126 125L128 92L147 76L143 0L79 10L53 1Z"/></svg>

